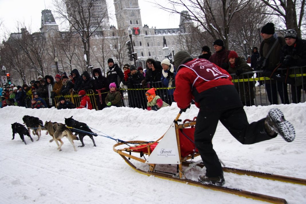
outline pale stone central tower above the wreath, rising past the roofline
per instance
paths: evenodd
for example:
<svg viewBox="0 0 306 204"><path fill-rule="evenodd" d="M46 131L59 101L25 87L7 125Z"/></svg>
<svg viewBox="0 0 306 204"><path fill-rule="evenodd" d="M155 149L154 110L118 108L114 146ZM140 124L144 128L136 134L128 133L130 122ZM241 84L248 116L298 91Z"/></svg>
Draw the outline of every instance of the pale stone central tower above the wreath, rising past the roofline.
<svg viewBox="0 0 306 204"><path fill-rule="evenodd" d="M118 29L142 27L138 0L114 0Z"/></svg>

